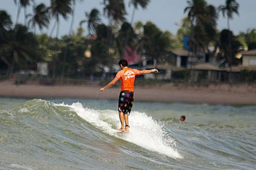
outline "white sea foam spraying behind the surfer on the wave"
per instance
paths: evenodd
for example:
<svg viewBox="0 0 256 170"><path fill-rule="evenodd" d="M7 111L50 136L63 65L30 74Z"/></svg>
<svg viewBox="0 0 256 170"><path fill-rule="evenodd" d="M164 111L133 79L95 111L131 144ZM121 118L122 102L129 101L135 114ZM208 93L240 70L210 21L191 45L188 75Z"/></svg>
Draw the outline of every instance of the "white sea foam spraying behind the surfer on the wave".
<svg viewBox="0 0 256 170"><path fill-rule="evenodd" d="M72 105L55 104L71 108L78 116L100 128L109 135L114 135L123 140L137 144L145 149L155 151L172 158L183 158L173 146L175 141L164 136L164 131L152 117L145 113L133 111L129 116L130 133L126 135L117 135L115 128L120 126L120 120L117 111L94 110L84 108L79 102Z"/></svg>

